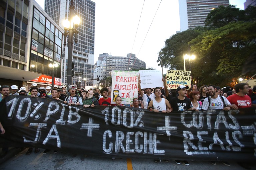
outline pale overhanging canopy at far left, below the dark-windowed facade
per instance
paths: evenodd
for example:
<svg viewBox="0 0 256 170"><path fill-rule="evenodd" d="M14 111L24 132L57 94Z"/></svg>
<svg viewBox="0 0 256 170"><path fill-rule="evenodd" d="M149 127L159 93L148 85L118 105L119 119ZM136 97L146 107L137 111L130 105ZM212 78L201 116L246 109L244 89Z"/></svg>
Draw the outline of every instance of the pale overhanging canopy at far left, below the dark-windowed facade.
<svg viewBox="0 0 256 170"><path fill-rule="evenodd" d="M4 78L4 79L29 81L29 80L33 80L41 75L42 74L0 65L0 78Z"/></svg>

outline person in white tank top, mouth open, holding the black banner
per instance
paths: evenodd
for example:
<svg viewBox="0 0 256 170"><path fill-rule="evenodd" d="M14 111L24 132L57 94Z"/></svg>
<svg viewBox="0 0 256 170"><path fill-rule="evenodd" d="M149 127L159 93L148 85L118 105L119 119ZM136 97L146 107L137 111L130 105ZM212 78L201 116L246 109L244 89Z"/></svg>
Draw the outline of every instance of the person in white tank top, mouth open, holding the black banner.
<svg viewBox="0 0 256 170"><path fill-rule="evenodd" d="M167 99L161 98L161 89L156 87L154 89L154 94L156 96L155 99L152 99L149 102L148 109L153 107L154 112L162 112L162 113L170 113L171 112L171 105ZM166 108L167 106L167 108Z"/></svg>

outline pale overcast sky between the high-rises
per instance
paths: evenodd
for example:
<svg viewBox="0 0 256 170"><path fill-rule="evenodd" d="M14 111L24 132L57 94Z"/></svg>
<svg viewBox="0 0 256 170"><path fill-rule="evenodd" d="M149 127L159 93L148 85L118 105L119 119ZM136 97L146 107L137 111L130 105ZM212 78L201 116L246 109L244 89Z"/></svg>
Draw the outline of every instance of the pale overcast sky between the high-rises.
<svg viewBox="0 0 256 170"><path fill-rule="evenodd" d="M92 1L96 3L94 62L98 60L99 54L104 52L113 56L133 53L146 63L146 68L161 70L156 62L158 52L164 47L165 40L180 30L178 0L145 0L145 3L144 0ZM229 2L237 8L244 9L245 1ZM44 0L36 2L44 8Z"/></svg>

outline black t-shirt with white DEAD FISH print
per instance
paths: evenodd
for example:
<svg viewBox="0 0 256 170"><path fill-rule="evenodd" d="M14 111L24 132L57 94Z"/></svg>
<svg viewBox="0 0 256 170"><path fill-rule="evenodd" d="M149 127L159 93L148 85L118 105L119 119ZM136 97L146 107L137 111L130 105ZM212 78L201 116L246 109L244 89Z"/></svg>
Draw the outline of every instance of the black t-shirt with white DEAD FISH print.
<svg viewBox="0 0 256 170"><path fill-rule="evenodd" d="M190 109L191 100L185 97L184 100L178 99L178 97L174 97L171 99L171 106L173 111L184 111Z"/></svg>

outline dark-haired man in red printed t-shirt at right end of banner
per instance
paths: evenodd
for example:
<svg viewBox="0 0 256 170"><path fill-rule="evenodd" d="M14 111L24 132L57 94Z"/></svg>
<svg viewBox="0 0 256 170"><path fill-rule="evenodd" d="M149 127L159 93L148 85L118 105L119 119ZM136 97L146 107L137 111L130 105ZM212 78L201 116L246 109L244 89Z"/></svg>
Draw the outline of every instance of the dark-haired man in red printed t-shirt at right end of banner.
<svg viewBox="0 0 256 170"><path fill-rule="evenodd" d="M249 92L249 86L246 83L238 83L234 87L236 94L229 96L227 99L231 104L235 104L237 108L247 108L252 106L251 98L246 95Z"/></svg>

